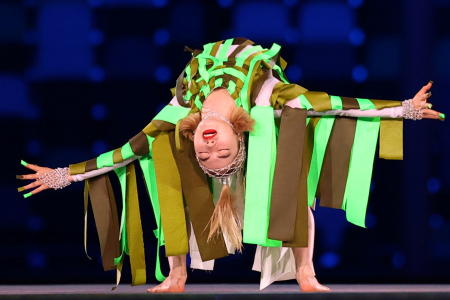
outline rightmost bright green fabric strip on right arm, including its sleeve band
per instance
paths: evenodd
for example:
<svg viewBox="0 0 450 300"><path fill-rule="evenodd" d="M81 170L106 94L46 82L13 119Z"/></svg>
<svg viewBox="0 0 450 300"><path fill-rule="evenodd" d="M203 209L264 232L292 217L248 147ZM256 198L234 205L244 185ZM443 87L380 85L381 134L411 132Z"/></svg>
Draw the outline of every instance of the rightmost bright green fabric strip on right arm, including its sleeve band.
<svg viewBox="0 0 450 300"><path fill-rule="evenodd" d="M375 109L368 99L357 99L362 110ZM365 227L373 160L380 128L380 118L358 118L350 157L342 208L347 220Z"/></svg>

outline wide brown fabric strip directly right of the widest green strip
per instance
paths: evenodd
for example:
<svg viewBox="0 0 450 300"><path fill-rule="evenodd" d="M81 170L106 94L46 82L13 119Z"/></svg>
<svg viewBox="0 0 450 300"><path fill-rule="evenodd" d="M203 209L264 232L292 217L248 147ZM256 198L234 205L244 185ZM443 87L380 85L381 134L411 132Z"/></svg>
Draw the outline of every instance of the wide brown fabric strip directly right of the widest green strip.
<svg viewBox="0 0 450 300"><path fill-rule="evenodd" d="M277 158L270 204L269 238L294 237L300 172L306 131L306 110L285 106L281 113Z"/></svg>

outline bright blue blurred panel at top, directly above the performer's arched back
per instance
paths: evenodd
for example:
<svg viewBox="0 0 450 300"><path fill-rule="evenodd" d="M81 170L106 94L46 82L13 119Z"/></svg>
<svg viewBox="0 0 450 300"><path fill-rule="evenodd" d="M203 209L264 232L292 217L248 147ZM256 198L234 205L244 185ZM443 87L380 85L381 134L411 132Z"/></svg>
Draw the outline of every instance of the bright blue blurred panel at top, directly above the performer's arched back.
<svg viewBox="0 0 450 300"><path fill-rule="evenodd" d="M258 42L280 40L288 29L287 13L287 8L281 3L240 3L232 14L232 35Z"/></svg>

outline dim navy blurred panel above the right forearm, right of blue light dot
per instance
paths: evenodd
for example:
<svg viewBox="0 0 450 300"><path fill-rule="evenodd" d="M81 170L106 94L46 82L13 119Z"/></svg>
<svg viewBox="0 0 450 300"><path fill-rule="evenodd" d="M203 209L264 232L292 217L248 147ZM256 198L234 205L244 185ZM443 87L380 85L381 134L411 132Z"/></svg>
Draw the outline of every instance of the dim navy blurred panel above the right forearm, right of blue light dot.
<svg viewBox="0 0 450 300"><path fill-rule="evenodd" d="M400 76L401 40L393 36L371 38L367 44L367 68L370 77L394 80Z"/></svg>

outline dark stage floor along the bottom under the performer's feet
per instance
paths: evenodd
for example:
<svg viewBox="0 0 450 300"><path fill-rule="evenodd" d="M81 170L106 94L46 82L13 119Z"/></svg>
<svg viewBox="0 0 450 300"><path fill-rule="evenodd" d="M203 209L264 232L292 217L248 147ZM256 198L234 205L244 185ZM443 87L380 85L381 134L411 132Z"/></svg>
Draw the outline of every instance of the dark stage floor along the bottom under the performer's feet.
<svg viewBox="0 0 450 300"><path fill-rule="evenodd" d="M450 299L450 284L330 284L330 293L303 293L295 284L190 284L183 294L149 294L151 285L0 285L1 299Z"/></svg>

